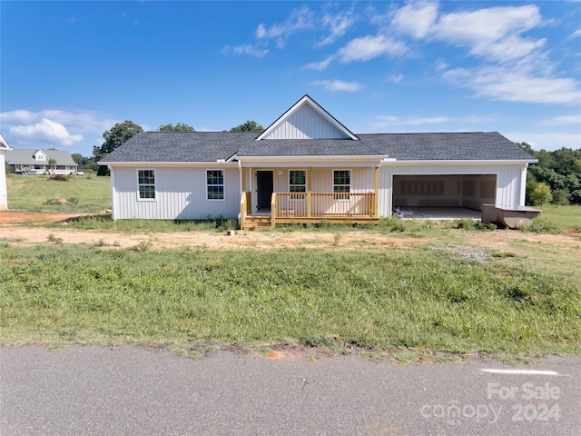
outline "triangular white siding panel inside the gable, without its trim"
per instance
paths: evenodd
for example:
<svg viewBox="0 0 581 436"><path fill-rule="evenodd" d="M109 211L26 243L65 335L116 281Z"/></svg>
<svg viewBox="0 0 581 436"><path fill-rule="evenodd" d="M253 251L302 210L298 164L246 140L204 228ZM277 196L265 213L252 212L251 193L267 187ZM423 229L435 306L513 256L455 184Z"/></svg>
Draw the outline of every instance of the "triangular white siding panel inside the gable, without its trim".
<svg viewBox="0 0 581 436"><path fill-rule="evenodd" d="M347 136L304 104L263 139L344 139Z"/></svg>

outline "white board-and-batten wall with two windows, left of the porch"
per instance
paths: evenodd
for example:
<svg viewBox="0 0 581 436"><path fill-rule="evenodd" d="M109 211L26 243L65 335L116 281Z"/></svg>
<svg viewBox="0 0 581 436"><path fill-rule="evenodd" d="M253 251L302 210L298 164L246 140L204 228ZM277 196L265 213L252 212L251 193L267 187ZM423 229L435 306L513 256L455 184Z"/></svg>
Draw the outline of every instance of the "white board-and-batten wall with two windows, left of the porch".
<svg viewBox="0 0 581 436"><path fill-rule="evenodd" d="M139 198L138 170L155 170L155 199ZM224 200L207 200L206 170L224 171ZM238 218L240 170L238 167L113 167L112 196L115 220L202 220Z"/></svg>

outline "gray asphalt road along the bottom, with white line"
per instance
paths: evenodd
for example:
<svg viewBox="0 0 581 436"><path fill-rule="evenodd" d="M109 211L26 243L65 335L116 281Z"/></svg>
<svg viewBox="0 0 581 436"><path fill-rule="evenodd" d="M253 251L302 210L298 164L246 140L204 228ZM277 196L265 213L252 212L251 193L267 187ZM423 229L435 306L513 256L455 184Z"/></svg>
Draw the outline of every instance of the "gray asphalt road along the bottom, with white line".
<svg viewBox="0 0 581 436"><path fill-rule="evenodd" d="M2 435L581 434L579 355L396 365L27 345L0 348L0 365Z"/></svg>

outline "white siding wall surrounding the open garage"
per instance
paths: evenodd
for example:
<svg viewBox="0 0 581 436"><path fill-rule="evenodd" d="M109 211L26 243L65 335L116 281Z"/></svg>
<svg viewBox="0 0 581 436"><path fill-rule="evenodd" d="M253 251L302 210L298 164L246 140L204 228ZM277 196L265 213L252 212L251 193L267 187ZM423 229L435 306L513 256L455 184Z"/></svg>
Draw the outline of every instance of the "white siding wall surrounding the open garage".
<svg viewBox="0 0 581 436"><path fill-rule="evenodd" d="M379 216L390 216L391 210L398 204L393 203L393 176L394 175L466 175L466 174L493 174L496 175L496 199L494 203L506 207L524 205L521 200L522 171L526 163L520 164L431 164L406 165L401 163L387 163L379 170ZM465 180L469 178L465 177ZM474 207L480 200L473 199Z"/></svg>

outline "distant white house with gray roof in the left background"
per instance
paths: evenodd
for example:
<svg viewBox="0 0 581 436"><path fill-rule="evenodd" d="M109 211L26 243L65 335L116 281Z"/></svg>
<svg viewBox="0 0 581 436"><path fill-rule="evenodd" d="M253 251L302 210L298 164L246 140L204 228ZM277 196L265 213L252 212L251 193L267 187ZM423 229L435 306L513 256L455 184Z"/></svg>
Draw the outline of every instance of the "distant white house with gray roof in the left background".
<svg viewBox="0 0 581 436"><path fill-rule="evenodd" d="M54 170L50 167L50 160L54 159ZM69 152L60 150L34 150L15 148L6 154L6 163L13 167L17 174L61 174L76 173L78 165Z"/></svg>

